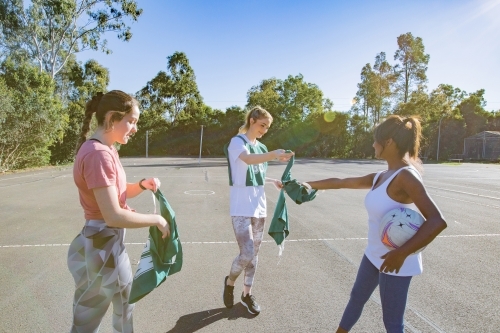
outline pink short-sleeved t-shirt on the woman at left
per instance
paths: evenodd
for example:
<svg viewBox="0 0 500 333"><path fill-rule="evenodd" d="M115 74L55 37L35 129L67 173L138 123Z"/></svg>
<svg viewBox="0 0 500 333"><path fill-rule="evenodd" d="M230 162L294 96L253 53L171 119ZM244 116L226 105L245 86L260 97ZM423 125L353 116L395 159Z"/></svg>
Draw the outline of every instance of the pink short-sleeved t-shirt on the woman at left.
<svg viewBox="0 0 500 333"><path fill-rule="evenodd" d="M103 219L92 191L98 187L116 186L120 207L132 210L126 203L127 179L115 147L110 148L95 140L84 142L76 154L73 179L85 219Z"/></svg>

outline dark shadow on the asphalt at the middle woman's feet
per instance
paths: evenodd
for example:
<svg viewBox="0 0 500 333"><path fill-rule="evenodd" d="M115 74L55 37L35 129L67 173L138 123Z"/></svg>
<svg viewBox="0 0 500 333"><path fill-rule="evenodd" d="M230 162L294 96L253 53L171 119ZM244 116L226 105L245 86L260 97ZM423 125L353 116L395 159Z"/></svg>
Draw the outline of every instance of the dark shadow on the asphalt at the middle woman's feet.
<svg viewBox="0 0 500 333"><path fill-rule="evenodd" d="M166 333L192 333L205 326L222 319L235 320L238 318L255 318L255 315L248 312L241 303L235 304L231 309L217 308L201 312L191 313L180 317L175 323L175 327Z"/></svg>

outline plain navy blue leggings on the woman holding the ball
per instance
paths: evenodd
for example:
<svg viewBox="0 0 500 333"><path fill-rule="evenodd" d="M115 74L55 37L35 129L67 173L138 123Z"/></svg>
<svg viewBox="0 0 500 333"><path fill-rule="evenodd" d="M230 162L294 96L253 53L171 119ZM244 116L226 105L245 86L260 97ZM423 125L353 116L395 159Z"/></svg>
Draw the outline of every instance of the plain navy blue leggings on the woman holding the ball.
<svg viewBox="0 0 500 333"><path fill-rule="evenodd" d="M351 298L344 310L339 326L346 331L351 330L361 317L365 303L370 299L371 294L378 285L386 331L388 333L403 333L403 318L411 278L411 276L394 276L380 273L377 267L366 256L363 256L356 282L352 287Z"/></svg>

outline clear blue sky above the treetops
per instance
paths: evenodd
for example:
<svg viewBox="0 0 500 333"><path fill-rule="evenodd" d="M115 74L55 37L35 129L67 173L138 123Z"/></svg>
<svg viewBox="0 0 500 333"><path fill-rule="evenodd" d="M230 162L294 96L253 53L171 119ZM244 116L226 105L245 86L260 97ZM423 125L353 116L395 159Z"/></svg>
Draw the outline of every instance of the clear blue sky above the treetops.
<svg viewBox="0 0 500 333"><path fill-rule="evenodd" d="M138 0L133 38L108 35L111 55L86 51L110 71L109 89L135 93L175 51L186 53L205 103L244 106L263 79L304 75L334 109L346 111L361 68L386 52L394 64L399 35L423 39L429 91L441 83L486 90L500 109L500 0Z"/></svg>

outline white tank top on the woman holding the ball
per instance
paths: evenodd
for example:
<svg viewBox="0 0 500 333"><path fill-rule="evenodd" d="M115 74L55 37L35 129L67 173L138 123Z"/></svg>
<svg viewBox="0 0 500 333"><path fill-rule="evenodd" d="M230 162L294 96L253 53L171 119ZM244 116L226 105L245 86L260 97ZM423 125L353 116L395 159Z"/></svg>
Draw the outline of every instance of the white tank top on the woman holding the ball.
<svg viewBox="0 0 500 333"><path fill-rule="evenodd" d="M387 249L380 240L379 224L382 220L382 217L391 209L399 207L410 208L417 212L419 211L414 203L400 203L392 200L387 194L387 187L392 182L394 177L396 177L396 175L403 169L412 171L415 176L420 179L420 181L422 181L422 177L420 176L418 171L411 166L407 166L396 170L387 180L385 180L382 184L379 184L377 188L373 189L373 187L377 183L378 178L383 173L383 171L379 171L373 179L373 184L370 192L368 192L365 197L365 207L368 212L368 246L366 247L365 255L378 269L380 269L380 266L382 266L382 263L384 262L384 259L381 259L380 257L389 252L389 249ZM422 254L418 253L409 255L406 258L398 274L387 274L396 276L413 276L422 274L422 270Z"/></svg>

